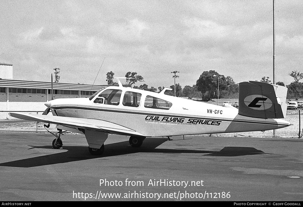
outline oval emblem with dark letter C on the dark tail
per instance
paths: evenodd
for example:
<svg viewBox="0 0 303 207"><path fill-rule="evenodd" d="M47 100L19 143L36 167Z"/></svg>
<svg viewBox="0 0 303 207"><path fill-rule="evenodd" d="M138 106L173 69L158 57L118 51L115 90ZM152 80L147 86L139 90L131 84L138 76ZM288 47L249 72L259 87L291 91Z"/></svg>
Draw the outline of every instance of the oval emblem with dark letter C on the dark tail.
<svg viewBox="0 0 303 207"><path fill-rule="evenodd" d="M257 94L245 97L244 103L253 110L267 110L272 106L268 97Z"/></svg>

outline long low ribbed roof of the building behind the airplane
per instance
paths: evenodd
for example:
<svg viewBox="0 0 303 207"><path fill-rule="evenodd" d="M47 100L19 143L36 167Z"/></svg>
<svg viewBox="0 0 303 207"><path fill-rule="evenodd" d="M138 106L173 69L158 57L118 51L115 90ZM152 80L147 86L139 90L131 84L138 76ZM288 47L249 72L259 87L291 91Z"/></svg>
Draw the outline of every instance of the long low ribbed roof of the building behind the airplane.
<svg viewBox="0 0 303 207"><path fill-rule="evenodd" d="M2 63L3 64L3 63ZM86 84L73 84L73 83L53 83L54 90L81 90L81 91L98 91L108 85L86 85ZM117 85L118 86L118 85ZM132 85L123 85L124 87L131 87ZM37 89L52 89L51 82L39 81L20 81L0 79L0 87L5 88L37 88Z"/></svg>

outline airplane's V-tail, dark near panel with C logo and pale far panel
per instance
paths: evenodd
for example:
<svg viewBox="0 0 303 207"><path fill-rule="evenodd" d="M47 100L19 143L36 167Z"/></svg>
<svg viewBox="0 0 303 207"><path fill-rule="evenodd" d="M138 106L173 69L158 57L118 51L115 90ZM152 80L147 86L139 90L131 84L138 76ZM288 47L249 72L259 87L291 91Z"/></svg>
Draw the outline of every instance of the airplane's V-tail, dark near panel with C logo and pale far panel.
<svg viewBox="0 0 303 207"><path fill-rule="evenodd" d="M287 88L258 81L239 83L239 115L262 119L286 117Z"/></svg>

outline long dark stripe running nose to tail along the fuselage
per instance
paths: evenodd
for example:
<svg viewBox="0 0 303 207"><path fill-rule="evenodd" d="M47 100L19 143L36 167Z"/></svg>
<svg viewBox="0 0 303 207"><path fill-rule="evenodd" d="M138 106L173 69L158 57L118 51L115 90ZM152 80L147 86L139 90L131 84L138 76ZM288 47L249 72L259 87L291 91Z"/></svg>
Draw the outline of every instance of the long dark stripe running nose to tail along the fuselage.
<svg viewBox="0 0 303 207"><path fill-rule="evenodd" d="M79 109L79 110L91 110L91 111L105 111L112 113L128 113L136 115L150 115L150 116L168 116L168 117L179 117L187 119L205 119L205 120L215 120L215 121L225 121L225 122L239 122L239 123L253 123L253 124L269 124L269 125L279 125L279 126L289 126L288 124L278 124L278 123L268 123L268 122L256 122L256 121L244 121L244 120L234 120L234 119L218 119L218 118L206 118L200 116L181 116L175 114L162 114L162 113L147 113L147 112L138 112L138 111L125 111L125 110L112 110L112 109L101 109L101 108L89 108L89 107L75 107L75 106L62 106L62 107L51 107L52 109Z"/></svg>

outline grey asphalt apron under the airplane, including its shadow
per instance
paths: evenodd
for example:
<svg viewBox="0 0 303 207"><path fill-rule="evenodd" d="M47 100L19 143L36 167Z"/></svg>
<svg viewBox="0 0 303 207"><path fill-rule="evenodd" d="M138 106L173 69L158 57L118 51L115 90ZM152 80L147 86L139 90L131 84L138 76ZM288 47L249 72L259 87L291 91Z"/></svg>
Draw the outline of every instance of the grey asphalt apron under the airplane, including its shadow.
<svg viewBox="0 0 303 207"><path fill-rule="evenodd" d="M100 156L84 135L63 135L63 149L53 139L0 133L0 200L303 200L303 139L180 136L133 148L109 135Z"/></svg>

